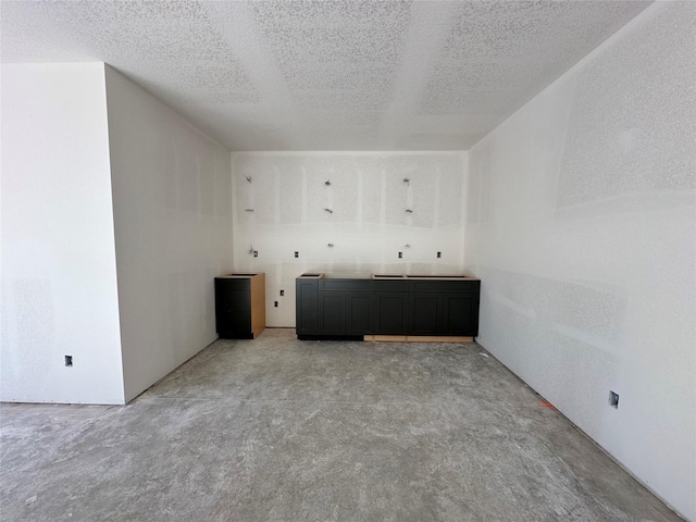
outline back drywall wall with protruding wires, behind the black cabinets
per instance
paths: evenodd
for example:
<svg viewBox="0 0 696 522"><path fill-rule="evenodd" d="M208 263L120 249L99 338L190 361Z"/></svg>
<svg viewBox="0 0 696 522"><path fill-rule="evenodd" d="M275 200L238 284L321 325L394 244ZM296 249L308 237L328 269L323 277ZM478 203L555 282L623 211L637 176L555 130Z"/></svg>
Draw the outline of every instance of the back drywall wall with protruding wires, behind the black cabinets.
<svg viewBox="0 0 696 522"><path fill-rule="evenodd" d="M461 273L465 160L465 152L233 154L235 270L265 272L266 325L295 326L295 278L303 272Z"/></svg>

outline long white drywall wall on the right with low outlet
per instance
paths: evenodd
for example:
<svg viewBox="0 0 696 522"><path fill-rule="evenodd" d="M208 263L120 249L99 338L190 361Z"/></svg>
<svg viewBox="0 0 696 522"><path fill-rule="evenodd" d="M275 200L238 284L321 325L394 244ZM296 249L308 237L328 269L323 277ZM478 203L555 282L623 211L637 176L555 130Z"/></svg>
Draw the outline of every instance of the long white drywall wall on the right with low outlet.
<svg viewBox="0 0 696 522"><path fill-rule="evenodd" d="M481 140L465 227L480 343L691 520L695 27L658 2Z"/></svg>

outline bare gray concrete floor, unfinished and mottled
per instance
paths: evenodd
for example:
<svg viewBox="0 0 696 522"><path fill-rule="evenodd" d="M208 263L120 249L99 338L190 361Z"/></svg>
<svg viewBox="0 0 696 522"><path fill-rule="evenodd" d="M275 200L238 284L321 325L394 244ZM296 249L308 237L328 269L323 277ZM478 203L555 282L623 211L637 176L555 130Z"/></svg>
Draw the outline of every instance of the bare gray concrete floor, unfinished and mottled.
<svg viewBox="0 0 696 522"><path fill-rule="evenodd" d="M5 403L0 515L682 520L486 356L266 330L125 407Z"/></svg>

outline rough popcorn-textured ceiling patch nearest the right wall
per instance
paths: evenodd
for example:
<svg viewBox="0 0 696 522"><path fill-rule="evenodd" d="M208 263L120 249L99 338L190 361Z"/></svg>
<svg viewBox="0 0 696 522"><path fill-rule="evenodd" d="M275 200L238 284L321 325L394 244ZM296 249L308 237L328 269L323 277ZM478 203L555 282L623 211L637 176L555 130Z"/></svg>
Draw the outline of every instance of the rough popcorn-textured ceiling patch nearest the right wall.
<svg viewBox="0 0 696 522"><path fill-rule="evenodd" d="M605 24L616 24L626 8L624 2L459 3L421 107L433 114L511 112L568 69L577 41L601 41Z"/></svg>

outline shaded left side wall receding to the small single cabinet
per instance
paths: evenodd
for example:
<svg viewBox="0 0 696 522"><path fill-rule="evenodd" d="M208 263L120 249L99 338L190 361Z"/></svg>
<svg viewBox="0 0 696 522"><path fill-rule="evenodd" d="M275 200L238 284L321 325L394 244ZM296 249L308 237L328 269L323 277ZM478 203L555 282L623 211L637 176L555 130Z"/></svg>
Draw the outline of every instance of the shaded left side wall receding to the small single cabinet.
<svg viewBox="0 0 696 522"><path fill-rule="evenodd" d="M229 151L107 66L126 400L217 338L232 269Z"/></svg>

